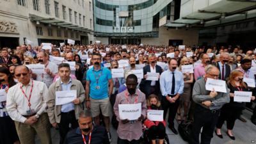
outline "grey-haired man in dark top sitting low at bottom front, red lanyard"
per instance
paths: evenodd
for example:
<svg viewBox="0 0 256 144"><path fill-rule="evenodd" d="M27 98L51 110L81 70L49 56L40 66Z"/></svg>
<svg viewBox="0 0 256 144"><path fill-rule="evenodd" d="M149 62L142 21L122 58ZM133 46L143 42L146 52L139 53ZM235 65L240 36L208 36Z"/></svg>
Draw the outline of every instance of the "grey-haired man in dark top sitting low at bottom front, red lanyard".
<svg viewBox="0 0 256 144"><path fill-rule="evenodd" d="M90 111L81 111L78 123L77 129L68 132L64 141L65 144L109 144L106 129L102 125L93 125Z"/></svg>

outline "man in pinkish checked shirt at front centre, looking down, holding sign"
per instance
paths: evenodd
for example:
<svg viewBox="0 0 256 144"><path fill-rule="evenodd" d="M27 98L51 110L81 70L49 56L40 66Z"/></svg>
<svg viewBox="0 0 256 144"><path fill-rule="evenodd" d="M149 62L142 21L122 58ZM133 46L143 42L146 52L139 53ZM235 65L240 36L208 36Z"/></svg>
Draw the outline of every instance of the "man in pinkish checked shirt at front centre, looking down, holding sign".
<svg viewBox="0 0 256 144"><path fill-rule="evenodd" d="M147 116L147 102L145 94L140 92L138 88L138 78L134 74L130 74L126 79L127 90L116 95L114 112L116 120L118 120L117 144L131 143L139 144L142 135L141 120ZM120 119L119 104L138 104L141 103L141 116L137 120Z"/></svg>

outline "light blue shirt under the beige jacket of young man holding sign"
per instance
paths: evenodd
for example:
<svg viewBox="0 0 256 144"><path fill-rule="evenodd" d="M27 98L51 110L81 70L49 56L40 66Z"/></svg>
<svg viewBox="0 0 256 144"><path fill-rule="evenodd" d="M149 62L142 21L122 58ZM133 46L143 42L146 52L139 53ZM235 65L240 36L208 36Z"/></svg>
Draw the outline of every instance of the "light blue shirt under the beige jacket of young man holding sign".
<svg viewBox="0 0 256 144"><path fill-rule="evenodd" d="M60 80L60 84L61 84L62 90L70 90L71 84L72 84L71 77L69 78L69 81L67 84L63 83L61 80ZM63 112L63 113L67 113L74 109L75 109L75 106L74 106L73 102L69 102L68 104L63 104L61 106L61 112Z"/></svg>

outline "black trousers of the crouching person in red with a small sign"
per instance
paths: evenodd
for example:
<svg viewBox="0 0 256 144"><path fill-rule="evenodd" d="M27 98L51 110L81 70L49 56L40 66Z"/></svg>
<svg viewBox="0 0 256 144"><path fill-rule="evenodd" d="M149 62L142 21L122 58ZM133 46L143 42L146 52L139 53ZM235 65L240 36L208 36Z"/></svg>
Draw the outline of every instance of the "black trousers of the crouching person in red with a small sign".
<svg viewBox="0 0 256 144"><path fill-rule="evenodd" d="M148 129L148 138L150 140L156 140L157 136L160 140L163 140L165 136L165 127L161 122L159 122L158 125L153 125Z"/></svg>

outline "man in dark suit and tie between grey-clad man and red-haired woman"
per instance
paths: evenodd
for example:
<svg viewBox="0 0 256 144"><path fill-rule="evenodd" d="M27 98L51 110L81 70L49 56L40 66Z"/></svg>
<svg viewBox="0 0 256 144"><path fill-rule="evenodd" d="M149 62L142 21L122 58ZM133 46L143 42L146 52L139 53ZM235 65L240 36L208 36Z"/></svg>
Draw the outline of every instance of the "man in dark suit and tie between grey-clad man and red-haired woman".
<svg viewBox="0 0 256 144"><path fill-rule="evenodd" d="M225 81L230 75L230 66L227 64L229 60L229 55L227 52L222 52L220 54L220 62L216 64L216 67L220 70L219 79Z"/></svg>

